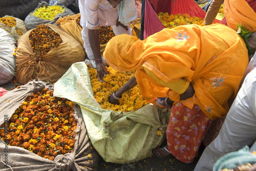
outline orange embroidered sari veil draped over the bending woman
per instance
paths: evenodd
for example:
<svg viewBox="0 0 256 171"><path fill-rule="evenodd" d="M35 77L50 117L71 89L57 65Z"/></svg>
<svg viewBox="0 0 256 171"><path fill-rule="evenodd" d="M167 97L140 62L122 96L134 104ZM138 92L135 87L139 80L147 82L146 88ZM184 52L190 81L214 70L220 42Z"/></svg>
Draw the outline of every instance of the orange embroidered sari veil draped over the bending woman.
<svg viewBox="0 0 256 171"><path fill-rule="evenodd" d="M166 95L177 101L179 94L167 92L146 74L144 67L164 82L186 79L195 95L181 102L190 108L198 104L211 119L227 113L228 100L236 95L248 65L243 39L220 24L163 29L145 40L118 35L108 42L103 56L117 70L136 70L140 92L148 101Z"/></svg>

